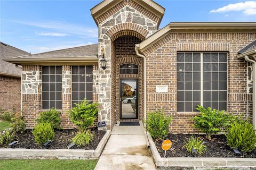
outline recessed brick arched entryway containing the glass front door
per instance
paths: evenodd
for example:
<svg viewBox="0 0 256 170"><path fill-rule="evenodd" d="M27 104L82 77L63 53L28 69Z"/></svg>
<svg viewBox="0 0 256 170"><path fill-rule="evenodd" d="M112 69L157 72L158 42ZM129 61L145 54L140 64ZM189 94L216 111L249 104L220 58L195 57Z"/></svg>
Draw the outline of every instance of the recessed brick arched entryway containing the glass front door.
<svg viewBox="0 0 256 170"><path fill-rule="evenodd" d="M143 58L135 44L145 39L135 31L120 31L111 38L111 121L143 119Z"/></svg>

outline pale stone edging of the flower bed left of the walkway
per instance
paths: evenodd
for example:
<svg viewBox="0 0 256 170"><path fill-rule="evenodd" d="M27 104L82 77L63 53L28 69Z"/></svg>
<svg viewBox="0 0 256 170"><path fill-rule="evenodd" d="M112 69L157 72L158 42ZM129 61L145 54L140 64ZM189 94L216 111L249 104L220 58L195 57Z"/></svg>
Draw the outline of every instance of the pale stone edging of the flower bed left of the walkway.
<svg viewBox="0 0 256 170"><path fill-rule="evenodd" d="M0 159L98 159L109 136L110 130L106 132L95 150L1 148Z"/></svg>

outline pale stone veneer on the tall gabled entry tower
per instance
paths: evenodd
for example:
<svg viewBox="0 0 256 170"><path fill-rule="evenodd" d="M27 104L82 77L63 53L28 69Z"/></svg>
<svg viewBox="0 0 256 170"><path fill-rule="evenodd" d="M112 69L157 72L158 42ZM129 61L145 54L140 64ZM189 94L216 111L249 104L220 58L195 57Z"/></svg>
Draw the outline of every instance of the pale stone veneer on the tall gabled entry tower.
<svg viewBox="0 0 256 170"><path fill-rule="evenodd" d="M98 54L102 55L105 53L107 60L106 70L99 70L99 121L105 121L107 129L111 129L111 126L115 123L111 122L115 121L115 119L111 120L110 118L110 115L115 114L111 113L115 111L113 109L114 106L111 107L111 104L115 105L115 103L118 103L116 100L111 101L114 100L113 97L111 99L111 90L115 91L111 89L111 72L113 73L111 69L114 69L111 67L111 64L114 62L111 61L111 52L114 50L111 48L111 41L121 36L121 32L122 36L146 38L157 30L159 18L134 1L121 1L96 18L95 21L99 23ZM100 60L101 58L99 58Z"/></svg>

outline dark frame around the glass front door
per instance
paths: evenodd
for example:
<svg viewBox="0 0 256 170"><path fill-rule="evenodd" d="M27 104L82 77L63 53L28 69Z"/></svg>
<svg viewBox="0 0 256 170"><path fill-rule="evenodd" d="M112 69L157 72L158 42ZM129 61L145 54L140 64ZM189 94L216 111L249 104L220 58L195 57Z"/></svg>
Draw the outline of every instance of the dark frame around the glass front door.
<svg viewBox="0 0 256 170"><path fill-rule="evenodd" d="M136 117L135 118L122 118L122 81L136 81ZM119 79L119 119L120 120L136 120L139 119L139 79Z"/></svg>

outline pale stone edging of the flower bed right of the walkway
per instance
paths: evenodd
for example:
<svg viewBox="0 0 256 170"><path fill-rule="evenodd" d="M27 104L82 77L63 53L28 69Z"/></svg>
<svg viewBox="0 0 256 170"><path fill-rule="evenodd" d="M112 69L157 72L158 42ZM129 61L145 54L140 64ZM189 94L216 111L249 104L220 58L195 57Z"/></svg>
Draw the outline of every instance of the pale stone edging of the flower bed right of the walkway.
<svg viewBox="0 0 256 170"><path fill-rule="evenodd" d="M157 167L256 167L255 158L193 158L160 156L156 145L147 132L150 151Z"/></svg>

